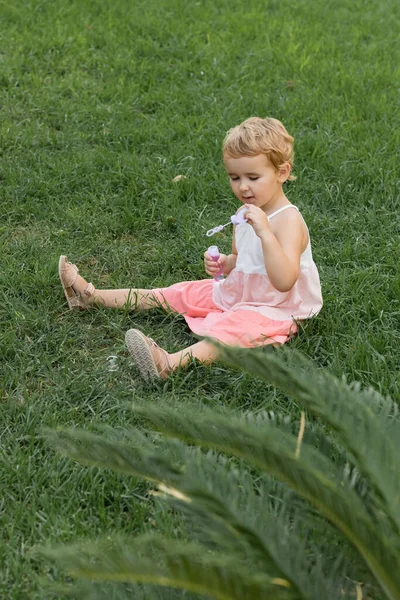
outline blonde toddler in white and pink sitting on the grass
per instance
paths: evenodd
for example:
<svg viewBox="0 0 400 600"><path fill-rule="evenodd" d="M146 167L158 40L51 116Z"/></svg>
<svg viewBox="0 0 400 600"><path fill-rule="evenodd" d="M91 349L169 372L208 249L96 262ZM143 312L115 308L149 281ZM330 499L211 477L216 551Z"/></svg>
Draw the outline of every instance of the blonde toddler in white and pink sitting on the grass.
<svg viewBox="0 0 400 600"><path fill-rule="evenodd" d="M317 314L321 286L308 229L282 187L294 179L293 138L277 119L252 117L228 131L223 160L246 220L234 227L230 254L215 262L205 252L211 279L153 290L98 290L61 256L59 275L69 307L85 309L96 302L146 310L161 303L182 314L195 334L242 347L283 344L296 332L296 321ZM216 281L220 268L226 278ZM125 339L146 379L166 378L191 357L206 363L218 357L207 340L169 354L137 329Z"/></svg>

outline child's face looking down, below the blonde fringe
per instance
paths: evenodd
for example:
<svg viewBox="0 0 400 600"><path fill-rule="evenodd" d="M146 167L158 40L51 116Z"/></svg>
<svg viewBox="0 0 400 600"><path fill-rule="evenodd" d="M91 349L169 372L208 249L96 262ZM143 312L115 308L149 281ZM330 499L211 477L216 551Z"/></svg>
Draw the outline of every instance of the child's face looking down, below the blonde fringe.
<svg viewBox="0 0 400 600"><path fill-rule="evenodd" d="M289 176L289 165L277 171L264 154L240 158L224 156L224 162L232 191L244 204L266 210L282 197L282 183Z"/></svg>

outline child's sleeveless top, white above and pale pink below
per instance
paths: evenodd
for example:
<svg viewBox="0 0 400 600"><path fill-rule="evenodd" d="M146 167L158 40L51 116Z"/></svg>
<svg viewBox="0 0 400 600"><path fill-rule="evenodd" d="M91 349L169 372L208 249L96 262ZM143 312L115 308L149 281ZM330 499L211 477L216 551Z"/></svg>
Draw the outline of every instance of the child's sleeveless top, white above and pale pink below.
<svg viewBox="0 0 400 600"><path fill-rule="evenodd" d="M269 215L268 220L288 208L299 210L297 206L287 204ZM288 292L279 292L270 282L261 240L249 223L236 225L235 242L236 267L213 287L213 302L218 308L223 311L255 310L276 321L308 319L321 310L321 284L312 257L310 236L300 258L299 277Z"/></svg>

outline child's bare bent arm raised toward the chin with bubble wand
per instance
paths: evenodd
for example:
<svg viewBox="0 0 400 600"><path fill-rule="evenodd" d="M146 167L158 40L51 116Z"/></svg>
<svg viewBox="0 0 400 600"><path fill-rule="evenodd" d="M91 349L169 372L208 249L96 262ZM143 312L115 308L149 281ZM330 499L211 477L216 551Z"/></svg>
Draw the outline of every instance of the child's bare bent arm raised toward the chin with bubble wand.
<svg viewBox="0 0 400 600"><path fill-rule="evenodd" d="M256 206L249 206L246 218L261 240L265 269L272 285L279 292L288 292L299 277L300 258L308 241L301 215L294 210L285 210L275 217L275 232L267 215Z"/></svg>

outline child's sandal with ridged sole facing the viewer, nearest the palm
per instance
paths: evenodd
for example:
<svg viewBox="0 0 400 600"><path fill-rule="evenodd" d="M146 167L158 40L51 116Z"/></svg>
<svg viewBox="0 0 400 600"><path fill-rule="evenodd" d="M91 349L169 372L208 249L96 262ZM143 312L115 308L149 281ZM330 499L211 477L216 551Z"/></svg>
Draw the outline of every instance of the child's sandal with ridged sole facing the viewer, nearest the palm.
<svg viewBox="0 0 400 600"><path fill-rule="evenodd" d="M169 354L138 329L125 334L128 350L144 379L166 379L172 371Z"/></svg>

